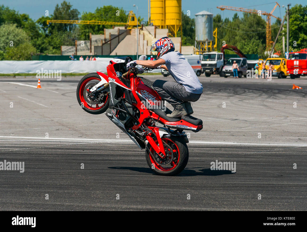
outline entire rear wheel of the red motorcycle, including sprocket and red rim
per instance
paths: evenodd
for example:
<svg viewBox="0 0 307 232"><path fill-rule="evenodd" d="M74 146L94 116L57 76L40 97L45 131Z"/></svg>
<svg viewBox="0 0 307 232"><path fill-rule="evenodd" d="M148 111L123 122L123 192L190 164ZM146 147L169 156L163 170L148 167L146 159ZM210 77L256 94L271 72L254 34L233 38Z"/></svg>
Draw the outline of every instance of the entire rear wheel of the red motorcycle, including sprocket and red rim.
<svg viewBox="0 0 307 232"><path fill-rule="evenodd" d="M146 145L146 161L154 173L162 176L173 176L185 169L188 163L189 152L185 141L177 136L162 138L166 157L161 157L151 145ZM155 141L157 144L157 140Z"/></svg>

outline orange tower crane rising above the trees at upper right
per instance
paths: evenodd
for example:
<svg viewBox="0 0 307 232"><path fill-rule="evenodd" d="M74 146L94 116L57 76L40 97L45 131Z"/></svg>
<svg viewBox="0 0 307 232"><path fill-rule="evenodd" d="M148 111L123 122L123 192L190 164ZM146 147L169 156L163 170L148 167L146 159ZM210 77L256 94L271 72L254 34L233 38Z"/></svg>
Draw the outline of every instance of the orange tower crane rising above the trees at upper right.
<svg viewBox="0 0 307 232"><path fill-rule="evenodd" d="M275 17L273 15L274 10L276 9L279 4L275 2L276 5L274 8L271 10L270 13L267 13L265 11L260 11L260 10L255 10L255 9L244 9L244 8L239 8L239 7L232 7L232 6L217 6L216 8L219 8L221 10L235 10L235 11L242 11L242 12L247 12L247 13L253 13L253 14L259 14L261 13L262 15L266 15L266 50L270 50L270 44L273 43L272 41L272 36L271 36L271 16L274 18L277 18L278 20L282 21L280 18ZM280 7L280 6L279 6Z"/></svg>

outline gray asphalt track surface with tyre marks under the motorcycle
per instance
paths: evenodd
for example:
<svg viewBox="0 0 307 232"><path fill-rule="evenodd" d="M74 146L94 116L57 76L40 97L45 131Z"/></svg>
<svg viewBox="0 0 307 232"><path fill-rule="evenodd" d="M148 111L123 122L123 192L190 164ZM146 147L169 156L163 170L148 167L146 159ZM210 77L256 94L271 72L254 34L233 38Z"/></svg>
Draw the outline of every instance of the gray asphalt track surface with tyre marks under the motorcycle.
<svg viewBox="0 0 307 232"><path fill-rule="evenodd" d="M153 174L144 150L79 107L80 79L36 89L34 77L0 77L0 162L25 162L23 173L0 170L0 210L306 210L306 78L201 76L193 110L204 129L188 134L174 177ZM211 170L216 160L236 172Z"/></svg>

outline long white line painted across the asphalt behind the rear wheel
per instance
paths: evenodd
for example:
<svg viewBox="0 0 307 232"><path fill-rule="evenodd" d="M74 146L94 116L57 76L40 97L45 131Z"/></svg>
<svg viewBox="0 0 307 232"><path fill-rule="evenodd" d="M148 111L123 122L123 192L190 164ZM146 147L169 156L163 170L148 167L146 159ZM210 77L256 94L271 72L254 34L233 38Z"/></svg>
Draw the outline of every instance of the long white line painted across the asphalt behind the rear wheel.
<svg viewBox="0 0 307 232"><path fill-rule="evenodd" d="M19 138L19 139L40 139L40 140L62 140L62 141L99 141L99 142L132 142L131 140L120 139L76 139L76 138L45 138L45 137L18 137L0 136L0 138ZM31 141L31 140L29 140ZM252 146L283 146L283 147L307 147L307 144L269 144L269 143L232 143L232 142L210 142L210 141L190 141L194 144L220 144L220 145L252 145Z"/></svg>

